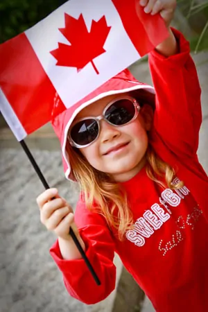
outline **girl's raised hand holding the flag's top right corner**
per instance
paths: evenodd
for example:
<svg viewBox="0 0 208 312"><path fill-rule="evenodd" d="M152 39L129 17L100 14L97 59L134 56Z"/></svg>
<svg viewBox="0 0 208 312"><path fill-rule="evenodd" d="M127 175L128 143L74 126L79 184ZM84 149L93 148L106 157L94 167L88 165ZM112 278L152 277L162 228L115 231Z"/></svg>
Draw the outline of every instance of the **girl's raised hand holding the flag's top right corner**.
<svg viewBox="0 0 208 312"><path fill-rule="evenodd" d="M155 15L160 13L166 26L170 26L176 8L176 0L138 0L144 12Z"/></svg>

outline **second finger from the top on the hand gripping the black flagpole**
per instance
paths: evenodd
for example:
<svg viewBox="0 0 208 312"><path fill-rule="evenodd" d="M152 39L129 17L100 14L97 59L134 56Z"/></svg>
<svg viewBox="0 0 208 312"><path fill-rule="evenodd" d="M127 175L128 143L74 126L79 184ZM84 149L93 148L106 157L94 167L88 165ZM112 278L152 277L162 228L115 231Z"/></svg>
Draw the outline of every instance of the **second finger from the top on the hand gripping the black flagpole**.
<svg viewBox="0 0 208 312"><path fill-rule="evenodd" d="M62 198L54 198L53 200L46 202L42 209L40 209L41 222L44 223L47 219L50 218L55 210L65 207L66 204L67 202Z"/></svg>

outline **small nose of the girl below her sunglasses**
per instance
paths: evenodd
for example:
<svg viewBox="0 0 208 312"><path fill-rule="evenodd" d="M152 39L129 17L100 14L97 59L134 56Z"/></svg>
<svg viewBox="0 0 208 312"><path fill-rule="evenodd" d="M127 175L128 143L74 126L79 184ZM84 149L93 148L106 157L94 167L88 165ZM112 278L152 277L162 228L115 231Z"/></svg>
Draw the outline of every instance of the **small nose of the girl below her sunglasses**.
<svg viewBox="0 0 208 312"><path fill-rule="evenodd" d="M121 135L118 127L110 125L110 123L107 123L107 121L105 121L104 119L100 121L100 126L100 137L102 143L112 141L112 139L116 139Z"/></svg>

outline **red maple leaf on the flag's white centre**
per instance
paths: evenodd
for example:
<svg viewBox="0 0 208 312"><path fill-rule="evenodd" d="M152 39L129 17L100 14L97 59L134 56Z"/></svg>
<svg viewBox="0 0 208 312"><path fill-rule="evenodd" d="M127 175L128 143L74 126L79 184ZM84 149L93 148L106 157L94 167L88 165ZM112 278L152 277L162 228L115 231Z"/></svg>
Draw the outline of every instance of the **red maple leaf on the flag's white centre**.
<svg viewBox="0 0 208 312"><path fill-rule="evenodd" d="M76 67L80 71L92 62L92 66L98 73L93 59L105 52L103 45L111 28L107 26L105 16L103 15L99 21L92 20L90 32L87 31L82 14L78 19L67 13L64 17L65 28L59 30L71 45L58 42L58 49L50 52L58 60L56 65Z"/></svg>

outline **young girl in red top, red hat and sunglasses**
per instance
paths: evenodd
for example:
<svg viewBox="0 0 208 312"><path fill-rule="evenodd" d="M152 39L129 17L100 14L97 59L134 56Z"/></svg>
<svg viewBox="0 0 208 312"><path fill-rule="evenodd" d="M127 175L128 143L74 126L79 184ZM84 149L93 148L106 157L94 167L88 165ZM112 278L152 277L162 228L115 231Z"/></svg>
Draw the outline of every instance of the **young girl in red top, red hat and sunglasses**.
<svg viewBox="0 0 208 312"><path fill-rule="evenodd" d="M66 176L80 184L80 199L74 216L57 189L44 191L37 204L42 223L58 236L51 255L71 296L86 304L105 299L115 287L116 252L157 312L207 312L208 179L196 155L198 76L189 43L169 28L175 1L136 2L146 13L160 12L168 26L169 37L149 54L155 89L125 70L58 116L53 126Z"/></svg>

